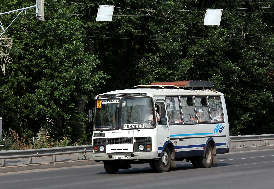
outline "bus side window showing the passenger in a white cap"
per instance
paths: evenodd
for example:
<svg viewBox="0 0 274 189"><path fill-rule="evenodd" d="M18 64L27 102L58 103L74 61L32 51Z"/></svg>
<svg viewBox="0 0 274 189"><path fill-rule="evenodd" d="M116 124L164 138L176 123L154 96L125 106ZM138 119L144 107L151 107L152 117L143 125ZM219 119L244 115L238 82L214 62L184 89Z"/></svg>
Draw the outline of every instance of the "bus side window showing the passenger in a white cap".
<svg viewBox="0 0 274 189"><path fill-rule="evenodd" d="M195 106L198 122L210 122L207 98L195 97Z"/></svg>

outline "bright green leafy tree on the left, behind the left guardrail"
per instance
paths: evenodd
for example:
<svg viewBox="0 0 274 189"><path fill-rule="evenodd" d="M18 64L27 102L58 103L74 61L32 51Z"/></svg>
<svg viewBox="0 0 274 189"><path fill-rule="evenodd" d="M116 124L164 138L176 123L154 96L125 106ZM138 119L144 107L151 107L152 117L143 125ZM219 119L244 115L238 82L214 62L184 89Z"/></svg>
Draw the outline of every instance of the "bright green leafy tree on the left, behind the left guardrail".
<svg viewBox="0 0 274 189"><path fill-rule="evenodd" d="M86 51L85 21L72 16L77 9L77 4L66 3L59 9L57 2L49 1L44 22L36 23L35 9L29 10L29 16L18 18L7 31L13 37L13 63L1 76L4 129L22 134L44 127L53 138L81 137L87 124L85 103L108 77L97 69L98 54Z"/></svg>

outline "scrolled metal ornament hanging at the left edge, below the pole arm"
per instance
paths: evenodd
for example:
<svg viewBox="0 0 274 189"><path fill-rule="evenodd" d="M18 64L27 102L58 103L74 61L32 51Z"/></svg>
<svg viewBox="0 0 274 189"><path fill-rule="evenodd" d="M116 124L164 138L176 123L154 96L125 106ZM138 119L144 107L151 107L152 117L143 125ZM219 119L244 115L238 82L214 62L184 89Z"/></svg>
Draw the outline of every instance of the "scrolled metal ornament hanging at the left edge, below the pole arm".
<svg viewBox="0 0 274 189"><path fill-rule="evenodd" d="M0 74L5 75L5 65L6 63L12 63L12 58L8 57L10 54L10 48L12 47L12 38L8 38L6 34L2 34L4 30L0 33Z"/></svg>

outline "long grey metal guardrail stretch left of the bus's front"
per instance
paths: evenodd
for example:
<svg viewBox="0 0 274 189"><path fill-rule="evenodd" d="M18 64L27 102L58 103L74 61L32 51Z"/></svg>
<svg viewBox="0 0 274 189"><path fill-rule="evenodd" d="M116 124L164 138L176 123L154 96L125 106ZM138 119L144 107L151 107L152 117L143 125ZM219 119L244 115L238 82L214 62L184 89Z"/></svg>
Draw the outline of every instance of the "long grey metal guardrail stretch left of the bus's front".
<svg viewBox="0 0 274 189"><path fill-rule="evenodd" d="M75 154L75 160L79 160L79 153L85 152L93 152L92 145L0 151L0 159L1 166L5 166L6 159L28 158L31 164L33 157L43 156L52 156L52 162L56 162L56 155Z"/></svg>

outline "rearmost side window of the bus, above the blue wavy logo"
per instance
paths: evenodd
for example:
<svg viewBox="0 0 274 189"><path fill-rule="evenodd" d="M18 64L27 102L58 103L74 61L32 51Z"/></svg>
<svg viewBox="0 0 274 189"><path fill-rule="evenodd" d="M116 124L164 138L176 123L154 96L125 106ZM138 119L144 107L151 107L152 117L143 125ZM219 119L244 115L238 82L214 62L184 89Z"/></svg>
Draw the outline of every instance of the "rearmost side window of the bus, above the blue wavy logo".
<svg viewBox="0 0 274 189"><path fill-rule="evenodd" d="M212 122L224 121L222 108L221 108L221 98L219 96L209 96L209 109Z"/></svg>

